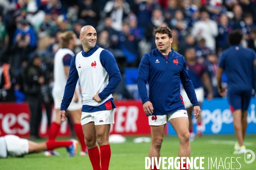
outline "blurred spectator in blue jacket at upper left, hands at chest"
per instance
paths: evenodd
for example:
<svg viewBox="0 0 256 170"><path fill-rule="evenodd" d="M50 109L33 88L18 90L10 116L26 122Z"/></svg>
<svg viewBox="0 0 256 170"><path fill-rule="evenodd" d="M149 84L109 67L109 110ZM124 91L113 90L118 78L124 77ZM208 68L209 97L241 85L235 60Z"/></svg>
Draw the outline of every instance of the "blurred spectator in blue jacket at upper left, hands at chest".
<svg viewBox="0 0 256 170"><path fill-rule="evenodd" d="M37 35L34 29L29 26L29 23L22 19L18 23L18 27L15 31L13 37L13 51L15 51L14 56L12 56L12 71L14 74L18 74L20 64L22 62L27 62L29 59L29 54L35 51L37 47Z"/></svg>

